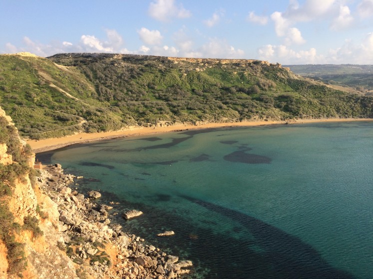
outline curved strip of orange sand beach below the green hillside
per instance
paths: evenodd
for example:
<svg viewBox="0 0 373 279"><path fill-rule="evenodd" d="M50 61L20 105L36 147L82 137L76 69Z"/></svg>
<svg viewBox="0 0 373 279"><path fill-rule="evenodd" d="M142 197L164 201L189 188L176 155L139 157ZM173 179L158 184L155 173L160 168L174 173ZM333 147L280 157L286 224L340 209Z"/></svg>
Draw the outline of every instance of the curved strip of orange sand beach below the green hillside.
<svg viewBox="0 0 373 279"><path fill-rule="evenodd" d="M52 139L29 139L27 143L31 146L33 152L39 153L50 151L61 147L85 143L90 141L104 140L104 139L117 139L124 137L145 136L168 132L186 131L186 130L200 130L200 129L213 129L223 127L255 127L267 125L288 125L288 124L306 124L306 123L323 123L323 122L352 122L352 121L373 121L372 118L328 118L328 119L299 119L289 121L246 121L246 122L232 122L232 123L207 123L201 125L191 124L176 124L166 127L136 127L128 128L113 132L102 133L79 133L62 138Z"/></svg>

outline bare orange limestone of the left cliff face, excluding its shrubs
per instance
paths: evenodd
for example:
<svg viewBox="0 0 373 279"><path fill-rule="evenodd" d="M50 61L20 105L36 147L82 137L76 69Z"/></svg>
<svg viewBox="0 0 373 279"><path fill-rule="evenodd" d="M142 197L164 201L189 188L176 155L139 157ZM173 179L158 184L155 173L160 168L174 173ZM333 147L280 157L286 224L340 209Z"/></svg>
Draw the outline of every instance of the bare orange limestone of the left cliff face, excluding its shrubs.
<svg viewBox="0 0 373 279"><path fill-rule="evenodd" d="M5 118L8 125L12 125L11 119L5 116L1 108L0 117ZM19 146L24 146L24 141L19 137L18 140ZM33 166L34 159L32 154L27 160L29 167ZM5 143L0 143L0 164L18 164L8 153L8 146ZM14 216L14 222L20 226L23 225L25 217L35 217L42 231L42 236L34 236L32 231L27 229L13 232L15 241L24 245L27 267L20 271L24 279L77 278L72 261L57 248L57 243L62 237L59 231L57 205L37 184L31 185L28 173L14 180L11 196L0 197L0 204L7 206ZM40 210L45 212L43 218L40 216ZM16 274L9 274L7 254L6 245L0 240L0 279L19 278L18 271Z"/></svg>

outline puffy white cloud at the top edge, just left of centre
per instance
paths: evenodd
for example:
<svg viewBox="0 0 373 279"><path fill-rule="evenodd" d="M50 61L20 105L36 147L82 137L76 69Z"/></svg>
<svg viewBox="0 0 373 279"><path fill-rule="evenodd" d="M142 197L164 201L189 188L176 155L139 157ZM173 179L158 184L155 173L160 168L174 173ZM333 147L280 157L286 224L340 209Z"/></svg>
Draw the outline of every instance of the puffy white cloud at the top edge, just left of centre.
<svg viewBox="0 0 373 279"><path fill-rule="evenodd" d="M170 21L171 18L187 18L192 14L182 4L175 5L174 0L155 0L149 5L149 15L159 21Z"/></svg>

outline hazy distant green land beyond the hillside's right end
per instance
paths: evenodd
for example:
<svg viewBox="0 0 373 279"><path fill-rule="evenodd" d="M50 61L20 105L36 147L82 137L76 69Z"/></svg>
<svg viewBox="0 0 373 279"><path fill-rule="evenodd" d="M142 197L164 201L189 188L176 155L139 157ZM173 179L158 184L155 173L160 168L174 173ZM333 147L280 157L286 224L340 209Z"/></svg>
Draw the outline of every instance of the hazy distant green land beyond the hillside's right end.
<svg viewBox="0 0 373 279"><path fill-rule="evenodd" d="M294 73L305 77L355 88L373 96L373 65L287 65Z"/></svg>

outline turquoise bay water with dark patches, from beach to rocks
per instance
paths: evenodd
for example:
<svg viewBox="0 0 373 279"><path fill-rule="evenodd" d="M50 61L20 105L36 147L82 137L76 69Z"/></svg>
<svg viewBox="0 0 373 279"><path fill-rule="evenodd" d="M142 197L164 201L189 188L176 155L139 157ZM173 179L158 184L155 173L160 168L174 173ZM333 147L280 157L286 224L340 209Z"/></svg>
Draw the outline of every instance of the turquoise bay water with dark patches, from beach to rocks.
<svg viewBox="0 0 373 279"><path fill-rule="evenodd" d="M193 278L371 279L372 139L368 122L223 128L38 156L142 210L117 221L192 260Z"/></svg>

